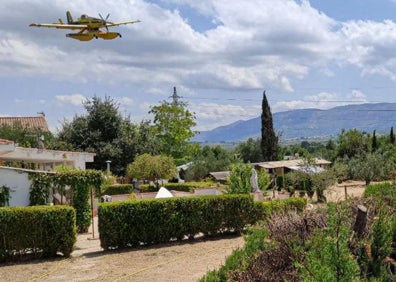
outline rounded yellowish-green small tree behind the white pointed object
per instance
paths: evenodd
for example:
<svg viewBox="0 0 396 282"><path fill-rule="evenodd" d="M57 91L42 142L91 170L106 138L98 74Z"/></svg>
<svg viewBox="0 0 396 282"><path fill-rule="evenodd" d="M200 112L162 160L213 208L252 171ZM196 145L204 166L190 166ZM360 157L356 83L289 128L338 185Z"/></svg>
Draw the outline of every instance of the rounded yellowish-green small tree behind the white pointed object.
<svg viewBox="0 0 396 282"><path fill-rule="evenodd" d="M169 179L176 175L177 168L172 157L143 154L128 165L127 175L139 180Z"/></svg>

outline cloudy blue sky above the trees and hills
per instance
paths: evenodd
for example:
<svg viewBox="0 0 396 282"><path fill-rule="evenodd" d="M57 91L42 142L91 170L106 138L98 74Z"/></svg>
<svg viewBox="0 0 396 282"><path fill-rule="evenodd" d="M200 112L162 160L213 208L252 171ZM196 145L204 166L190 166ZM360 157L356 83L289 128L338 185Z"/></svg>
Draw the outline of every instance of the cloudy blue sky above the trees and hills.
<svg viewBox="0 0 396 282"><path fill-rule="evenodd" d="M28 27L67 10L142 22L113 41ZM257 117L264 90L273 112L396 102L392 0L2 0L0 31L0 115L44 111L54 132L95 95L150 119L173 86L197 130Z"/></svg>

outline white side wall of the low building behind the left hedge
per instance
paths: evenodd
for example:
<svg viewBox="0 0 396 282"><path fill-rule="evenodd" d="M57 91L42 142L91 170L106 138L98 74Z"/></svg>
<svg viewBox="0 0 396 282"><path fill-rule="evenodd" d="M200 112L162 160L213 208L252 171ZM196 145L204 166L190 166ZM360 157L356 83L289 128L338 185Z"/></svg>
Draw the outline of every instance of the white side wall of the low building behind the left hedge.
<svg viewBox="0 0 396 282"><path fill-rule="evenodd" d="M28 171L9 167L0 167L0 186L7 186L10 191L10 206L28 206L30 180Z"/></svg>

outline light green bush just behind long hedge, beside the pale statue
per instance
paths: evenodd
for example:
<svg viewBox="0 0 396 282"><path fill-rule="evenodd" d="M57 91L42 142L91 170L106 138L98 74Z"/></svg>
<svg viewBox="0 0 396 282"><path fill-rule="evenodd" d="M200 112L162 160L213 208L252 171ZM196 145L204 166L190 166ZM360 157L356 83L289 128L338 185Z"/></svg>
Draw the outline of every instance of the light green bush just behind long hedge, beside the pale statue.
<svg viewBox="0 0 396 282"><path fill-rule="evenodd" d="M225 189L228 194L248 194L252 190L250 177L252 166L250 164L234 164L231 166L231 174L228 182L229 187Z"/></svg>

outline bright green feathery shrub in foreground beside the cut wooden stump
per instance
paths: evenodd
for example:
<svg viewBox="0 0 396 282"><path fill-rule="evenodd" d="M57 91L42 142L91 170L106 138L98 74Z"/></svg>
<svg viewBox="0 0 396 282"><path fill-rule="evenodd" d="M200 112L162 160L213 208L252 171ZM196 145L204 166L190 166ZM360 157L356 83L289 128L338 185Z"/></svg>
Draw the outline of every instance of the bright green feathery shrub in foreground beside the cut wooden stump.
<svg viewBox="0 0 396 282"><path fill-rule="evenodd" d="M327 227L315 232L304 262L297 267L302 281L359 281L360 269L348 248L350 214L342 206L328 206Z"/></svg>

